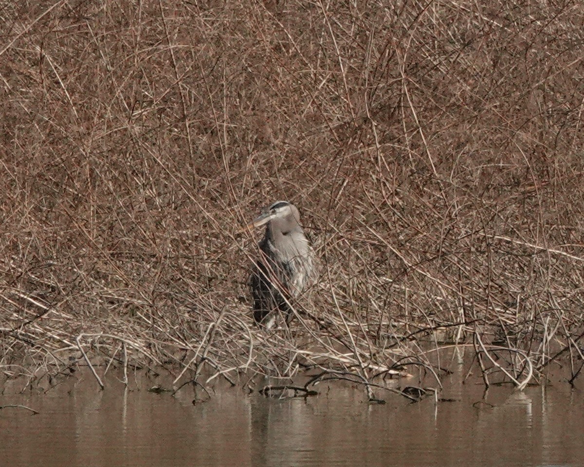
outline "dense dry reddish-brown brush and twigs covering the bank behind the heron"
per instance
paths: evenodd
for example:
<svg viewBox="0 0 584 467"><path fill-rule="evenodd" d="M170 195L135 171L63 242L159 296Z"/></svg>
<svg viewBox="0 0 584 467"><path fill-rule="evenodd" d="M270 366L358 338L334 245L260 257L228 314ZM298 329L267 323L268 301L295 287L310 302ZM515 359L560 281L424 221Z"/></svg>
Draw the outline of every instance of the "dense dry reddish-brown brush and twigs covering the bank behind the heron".
<svg viewBox="0 0 584 467"><path fill-rule="evenodd" d="M578 374L579 0L0 2L0 38L5 377ZM235 232L280 199L322 277L267 333Z"/></svg>

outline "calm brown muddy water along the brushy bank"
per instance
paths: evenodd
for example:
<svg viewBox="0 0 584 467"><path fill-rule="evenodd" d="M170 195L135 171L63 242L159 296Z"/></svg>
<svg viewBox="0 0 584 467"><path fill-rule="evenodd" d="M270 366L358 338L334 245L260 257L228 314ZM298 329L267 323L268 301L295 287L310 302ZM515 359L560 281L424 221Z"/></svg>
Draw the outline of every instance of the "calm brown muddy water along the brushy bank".
<svg viewBox="0 0 584 467"><path fill-rule="evenodd" d="M442 398L409 403L333 385L308 399L273 400L222 389L193 405L193 393L124 391L69 378L46 393L5 387L2 466L538 466L584 465L582 391L565 382L523 393L479 381L444 381ZM415 384L409 381L407 384Z"/></svg>

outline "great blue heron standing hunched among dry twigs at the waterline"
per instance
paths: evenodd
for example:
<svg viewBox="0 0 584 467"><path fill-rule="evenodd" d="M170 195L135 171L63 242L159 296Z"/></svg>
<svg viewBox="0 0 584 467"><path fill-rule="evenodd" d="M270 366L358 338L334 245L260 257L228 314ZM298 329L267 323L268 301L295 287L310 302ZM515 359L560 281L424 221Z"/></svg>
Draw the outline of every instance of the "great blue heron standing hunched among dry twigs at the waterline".
<svg viewBox="0 0 584 467"><path fill-rule="evenodd" d="M259 257L249 280L253 295L253 317L267 329L278 311L291 318L290 303L317 278L314 250L300 226L294 204L276 201L248 227L266 225L259 242Z"/></svg>

